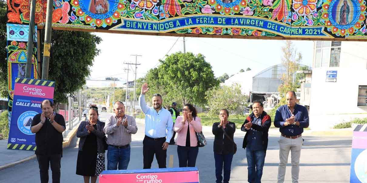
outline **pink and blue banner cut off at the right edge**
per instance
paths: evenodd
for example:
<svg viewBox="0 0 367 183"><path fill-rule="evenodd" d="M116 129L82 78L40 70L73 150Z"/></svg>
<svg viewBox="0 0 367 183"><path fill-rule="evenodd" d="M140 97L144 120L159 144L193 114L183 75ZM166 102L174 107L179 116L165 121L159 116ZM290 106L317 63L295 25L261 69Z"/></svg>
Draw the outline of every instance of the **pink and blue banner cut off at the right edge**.
<svg viewBox="0 0 367 183"><path fill-rule="evenodd" d="M367 124L353 130L350 182L367 183Z"/></svg>

